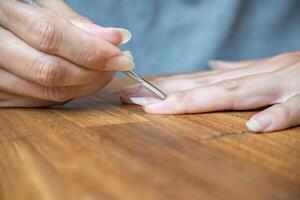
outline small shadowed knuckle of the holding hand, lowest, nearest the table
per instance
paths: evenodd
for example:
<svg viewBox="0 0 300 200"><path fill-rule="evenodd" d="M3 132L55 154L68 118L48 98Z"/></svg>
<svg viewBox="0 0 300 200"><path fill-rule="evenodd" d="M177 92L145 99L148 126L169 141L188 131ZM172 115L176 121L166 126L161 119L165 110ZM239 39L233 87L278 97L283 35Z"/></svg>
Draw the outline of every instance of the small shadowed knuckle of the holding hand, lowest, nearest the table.
<svg viewBox="0 0 300 200"><path fill-rule="evenodd" d="M48 99L54 102L64 103L73 98L70 90L63 87L48 87L46 92Z"/></svg>

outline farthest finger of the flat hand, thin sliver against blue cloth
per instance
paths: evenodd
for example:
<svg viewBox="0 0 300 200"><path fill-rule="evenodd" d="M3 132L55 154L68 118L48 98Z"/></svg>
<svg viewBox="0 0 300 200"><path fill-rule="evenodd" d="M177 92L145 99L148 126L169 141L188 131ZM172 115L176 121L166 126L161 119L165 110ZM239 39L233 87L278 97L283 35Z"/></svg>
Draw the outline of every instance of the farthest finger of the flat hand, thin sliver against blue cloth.
<svg viewBox="0 0 300 200"><path fill-rule="evenodd" d="M257 60L246 60L246 61L223 61L223 60L211 60L208 62L210 69L216 70L226 70L226 69L236 69L241 67L247 67L249 65L254 65Z"/></svg>

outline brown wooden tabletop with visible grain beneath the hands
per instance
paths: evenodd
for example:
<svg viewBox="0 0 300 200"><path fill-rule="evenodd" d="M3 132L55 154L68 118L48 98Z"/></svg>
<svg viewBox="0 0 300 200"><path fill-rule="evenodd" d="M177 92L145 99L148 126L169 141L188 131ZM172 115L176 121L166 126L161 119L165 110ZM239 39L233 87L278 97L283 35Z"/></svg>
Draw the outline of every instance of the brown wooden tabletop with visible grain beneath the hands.
<svg viewBox="0 0 300 200"><path fill-rule="evenodd" d="M300 128L252 134L250 112L156 116L110 89L1 109L0 199L300 199Z"/></svg>

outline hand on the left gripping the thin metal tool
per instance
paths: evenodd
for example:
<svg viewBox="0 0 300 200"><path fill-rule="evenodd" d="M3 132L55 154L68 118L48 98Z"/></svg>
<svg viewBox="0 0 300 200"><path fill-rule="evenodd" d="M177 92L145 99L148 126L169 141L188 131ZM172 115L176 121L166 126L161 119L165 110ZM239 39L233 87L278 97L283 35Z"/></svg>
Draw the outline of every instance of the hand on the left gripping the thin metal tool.
<svg viewBox="0 0 300 200"><path fill-rule="evenodd" d="M134 67L117 45L124 29L103 28L61 0L41 7L0 1L0 107L45 106L103 88Z"/></svg>

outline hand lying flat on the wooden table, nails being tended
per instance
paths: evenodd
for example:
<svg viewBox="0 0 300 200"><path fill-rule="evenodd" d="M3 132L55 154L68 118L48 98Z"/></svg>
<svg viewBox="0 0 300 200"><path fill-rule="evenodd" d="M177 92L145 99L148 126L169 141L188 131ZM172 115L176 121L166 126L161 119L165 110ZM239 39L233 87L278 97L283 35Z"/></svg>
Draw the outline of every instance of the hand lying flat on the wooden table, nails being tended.
<svg viewBox="0 0 300 200"><path fill-rule="evenodd" d="M254 115L247 127L270 132L300 125L300 52L257 61L214 62L215 70L154 80L168 94L160 101L142 87L121 92L125 103L154 114L249 110L273 105Z"/></svg>

